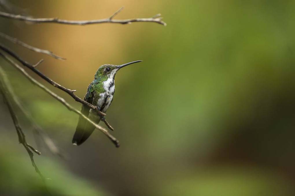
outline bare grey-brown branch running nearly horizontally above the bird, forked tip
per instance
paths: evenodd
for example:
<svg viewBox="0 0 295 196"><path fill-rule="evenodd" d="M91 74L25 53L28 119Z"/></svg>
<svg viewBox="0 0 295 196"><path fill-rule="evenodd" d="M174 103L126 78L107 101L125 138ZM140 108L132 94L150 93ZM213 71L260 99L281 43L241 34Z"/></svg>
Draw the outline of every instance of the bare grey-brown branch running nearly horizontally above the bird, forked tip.
<svg viewBox="0 0 295 196"><path fill-rule="evenodd" d="M58 24L70 24L70 25L88 25L88 24L101 24L101 23L118 23L118 24L130 24L132 22L155 22L158 24L162 24L166 26L166 23L162 21L162 18L134 18L134 19L125 19L125 20L114 20L112 19L115 15L117 15L122 9L117 11L115 14L113 14L110 18L106 19L98 19L98 20L62 20L58 18L32 18L22 15L15 15L15 14L9 14L6 12L0 11L0 16L4 18L9 19L16 19L21 21L30 21L35 23L58 23Z"/></svg>

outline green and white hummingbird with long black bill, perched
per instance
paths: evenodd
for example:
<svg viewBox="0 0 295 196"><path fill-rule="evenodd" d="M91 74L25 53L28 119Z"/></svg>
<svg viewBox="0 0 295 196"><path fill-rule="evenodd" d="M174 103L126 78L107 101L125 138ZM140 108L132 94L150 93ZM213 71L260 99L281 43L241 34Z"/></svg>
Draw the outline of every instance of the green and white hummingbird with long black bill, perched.
<svg viewBox="0 0 295 196"><path fill-rule="evenodd" d="M84 100L94 106L97 106L99 111L105 113L113 101L115 92L115 75L117 71L122 67L138 62L141 61L133 61L122 65L101 65L94 75L94 80L87 88ZM82 105L81 113L96 124L98 124L101 120L101 116L99 116L96 111L90 109L86 105ZM93 124L80 116L72 143L74 145L82 144L86 141L86 139L89 138L94 129L95 127Z"/></svg>

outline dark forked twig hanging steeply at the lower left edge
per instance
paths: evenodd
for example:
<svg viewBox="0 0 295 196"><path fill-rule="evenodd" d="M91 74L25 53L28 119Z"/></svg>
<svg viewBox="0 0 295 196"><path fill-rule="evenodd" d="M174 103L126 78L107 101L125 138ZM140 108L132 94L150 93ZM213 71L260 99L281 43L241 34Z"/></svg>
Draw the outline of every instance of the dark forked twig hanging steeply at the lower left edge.
<svg viewBox="0 0 295 196"><path fill-rule="evenodd" d="M0 69L0 71L2 71L2 69ZM34 161L34 158L33 158L33 156L34 156L33 152L36 152L38 155L40 155L40 152L38 152L35 148L33 148L30 144L27 143L26 138L25 138L25 135L24 135L24 133L22 131L22 128L19 125L19 121L17 119L17 116L14 113L14 110L12 108L12 103L10 102L7 89L5 88L5 85L2 82L2 79L0 79L0 82L1 82L0 91L1 91L1 94L3 95L4 102L6 103L8 109L9 109L9 113L10 113L10 115L12 117L12 120L13 120L13 123L14 123L14 126L15 126L15 129L17 131L17 135L18 135L18 138L19 138L19 143L21 143L24 146L24 148L27 150L27 152L28 152L28 154L30 156L32 165L35 168L35 171L38 173L38 175L41 177L41 179L45 182L45 178L41 174L41 172L38 169L37 165L35 164L35 161Z"/></svg>

